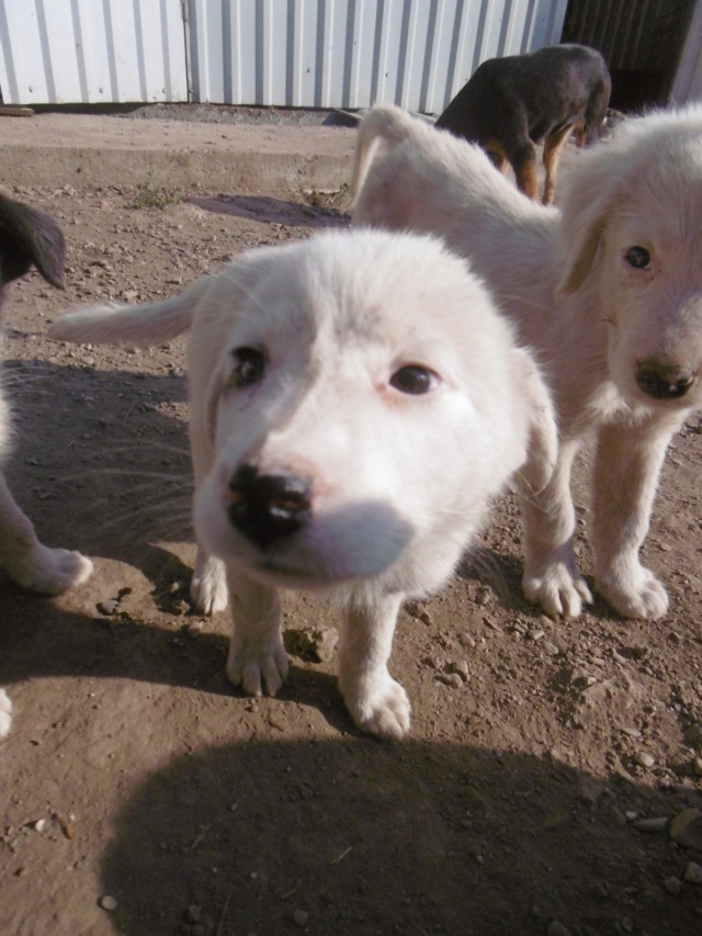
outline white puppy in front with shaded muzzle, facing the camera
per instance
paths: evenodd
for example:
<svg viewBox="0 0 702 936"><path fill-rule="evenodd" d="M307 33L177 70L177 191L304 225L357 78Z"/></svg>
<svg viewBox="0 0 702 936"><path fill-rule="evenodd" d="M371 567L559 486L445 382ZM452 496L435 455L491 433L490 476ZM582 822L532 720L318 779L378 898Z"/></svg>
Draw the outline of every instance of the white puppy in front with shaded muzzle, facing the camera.
<svg viewBox="0 0 702 936"><path fill-rule="evenodd" d="M544 383L482 282L429 237L338 232L253 250L180 296L73 313L53 334L154 343L191 326L192 596L216 611L228 586L229 678L275 693L278 589L326 589L343 610L353 719L400 737L398 609L445 582L511 474L545 484Z"/></svg>

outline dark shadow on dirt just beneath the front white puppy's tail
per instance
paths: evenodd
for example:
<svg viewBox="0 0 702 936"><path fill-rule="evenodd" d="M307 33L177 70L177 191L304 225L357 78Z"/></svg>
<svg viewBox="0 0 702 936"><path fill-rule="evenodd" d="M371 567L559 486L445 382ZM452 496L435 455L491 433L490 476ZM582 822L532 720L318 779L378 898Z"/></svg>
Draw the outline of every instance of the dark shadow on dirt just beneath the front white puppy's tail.
<svg viewBox="0 0 702 936"><path fill-rule="evenodd" d="M192 542L184 377L7 361L4 383L5 477L43 542L149 576L149 543Z"/></svg>

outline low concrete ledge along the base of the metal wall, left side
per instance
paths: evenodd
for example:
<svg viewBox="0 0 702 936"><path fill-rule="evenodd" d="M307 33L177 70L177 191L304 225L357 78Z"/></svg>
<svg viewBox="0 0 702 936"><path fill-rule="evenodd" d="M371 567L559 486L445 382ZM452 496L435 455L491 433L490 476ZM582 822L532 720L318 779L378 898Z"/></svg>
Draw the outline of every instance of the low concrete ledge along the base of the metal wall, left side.
<svg viewBox="0 0 702 936"><path fill-rule="evenodd" d="M5 185L136 185L210 191L333 189L348 182L355 131L39 114L0 117Z"/></svg>

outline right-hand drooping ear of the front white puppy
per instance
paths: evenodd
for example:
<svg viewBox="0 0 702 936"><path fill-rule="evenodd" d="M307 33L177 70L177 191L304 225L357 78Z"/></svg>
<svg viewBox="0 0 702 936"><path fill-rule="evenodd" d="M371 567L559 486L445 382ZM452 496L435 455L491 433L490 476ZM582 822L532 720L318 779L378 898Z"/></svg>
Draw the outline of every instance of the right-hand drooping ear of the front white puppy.
<svg viewBox="0 0 702 936"><path fill-rule="evenodd" d="M558 427L551 393L531 354L514 349L514 380L519 398L528 409L530 425L526 461L516 475L520 494L531 497L548 484L558 454Z"/></svg>

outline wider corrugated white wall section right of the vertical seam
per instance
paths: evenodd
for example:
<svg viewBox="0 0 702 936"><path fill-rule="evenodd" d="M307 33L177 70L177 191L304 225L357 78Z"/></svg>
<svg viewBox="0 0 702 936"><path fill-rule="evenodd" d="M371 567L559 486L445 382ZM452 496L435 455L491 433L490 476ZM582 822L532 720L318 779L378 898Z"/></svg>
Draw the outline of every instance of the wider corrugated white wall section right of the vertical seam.
<svg viewBox="0 0 702 936"><path fill-rule="evenodd" d="M193 98L439 112L486 58L558 42L567 0L190 0Z"/></svg>

